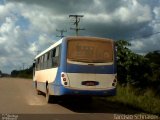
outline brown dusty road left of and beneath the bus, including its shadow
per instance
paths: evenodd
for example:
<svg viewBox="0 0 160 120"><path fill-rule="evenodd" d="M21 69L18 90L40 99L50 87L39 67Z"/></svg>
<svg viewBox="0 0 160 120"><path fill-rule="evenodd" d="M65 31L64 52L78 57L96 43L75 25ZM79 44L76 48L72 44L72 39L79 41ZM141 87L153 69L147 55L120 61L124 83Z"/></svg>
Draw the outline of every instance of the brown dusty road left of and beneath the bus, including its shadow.
<svg viewBox="0 0 160 120"><path fill-rule="evenodd" d="M0 119L17 115L19 119L113 120L120 114L140 114L101 99L93 100L90 105L66 101L47 104L43 95L36 94L32 80L0 78Z"/></svg>

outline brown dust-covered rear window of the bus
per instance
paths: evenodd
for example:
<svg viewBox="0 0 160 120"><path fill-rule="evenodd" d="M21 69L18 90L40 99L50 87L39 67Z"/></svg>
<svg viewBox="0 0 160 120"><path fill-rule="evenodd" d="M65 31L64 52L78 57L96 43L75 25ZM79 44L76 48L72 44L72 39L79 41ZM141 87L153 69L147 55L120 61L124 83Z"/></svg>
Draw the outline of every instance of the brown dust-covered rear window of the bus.
<svg viewBox="0 0 160 120"><path fill-rule="evenodd" d="M113 43L110 40L69 40L67 58L86 63L113 62Z"/></svg>

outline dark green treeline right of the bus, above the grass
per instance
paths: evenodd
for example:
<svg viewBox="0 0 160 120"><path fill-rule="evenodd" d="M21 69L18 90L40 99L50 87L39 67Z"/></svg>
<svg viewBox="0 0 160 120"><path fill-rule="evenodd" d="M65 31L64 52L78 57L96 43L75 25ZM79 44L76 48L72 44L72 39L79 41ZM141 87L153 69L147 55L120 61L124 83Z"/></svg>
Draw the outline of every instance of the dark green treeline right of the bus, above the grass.
<svg viewBox="0 0 160 120"><path fill-rule="evenodd" d="M116 42L117 78L121 86L139 89L151 88L160 93L160 51L139 55L129 49L131 44L125 40Z"/></svg>

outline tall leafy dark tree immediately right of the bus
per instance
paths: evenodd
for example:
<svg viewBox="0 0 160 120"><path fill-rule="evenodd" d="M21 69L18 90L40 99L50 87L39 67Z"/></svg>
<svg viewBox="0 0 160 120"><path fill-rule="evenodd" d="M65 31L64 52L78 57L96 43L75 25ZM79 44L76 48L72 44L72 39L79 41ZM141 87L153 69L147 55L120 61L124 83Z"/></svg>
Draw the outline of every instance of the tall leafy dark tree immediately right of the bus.
<svg viewBox="0 0 160 120"><path fill-rule="evenodd" d="M144 87L151 73L150 66L144 56L132 52L129 46L128 41L116 41L118 81L121 85Z"/></svg>

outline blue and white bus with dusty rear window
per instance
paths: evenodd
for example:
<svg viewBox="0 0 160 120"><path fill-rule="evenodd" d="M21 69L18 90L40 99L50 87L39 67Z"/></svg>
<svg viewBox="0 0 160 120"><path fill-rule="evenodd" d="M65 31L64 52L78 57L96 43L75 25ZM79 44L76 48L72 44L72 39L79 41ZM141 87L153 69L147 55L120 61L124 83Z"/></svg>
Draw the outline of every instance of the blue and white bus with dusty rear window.
<svg viewBox="0 0 160 120"><path fill-rule="evenodd" d="M112 39L64 37L34 59L33 83L47 102L56 96L116 94L116 49Z"/></svg>

